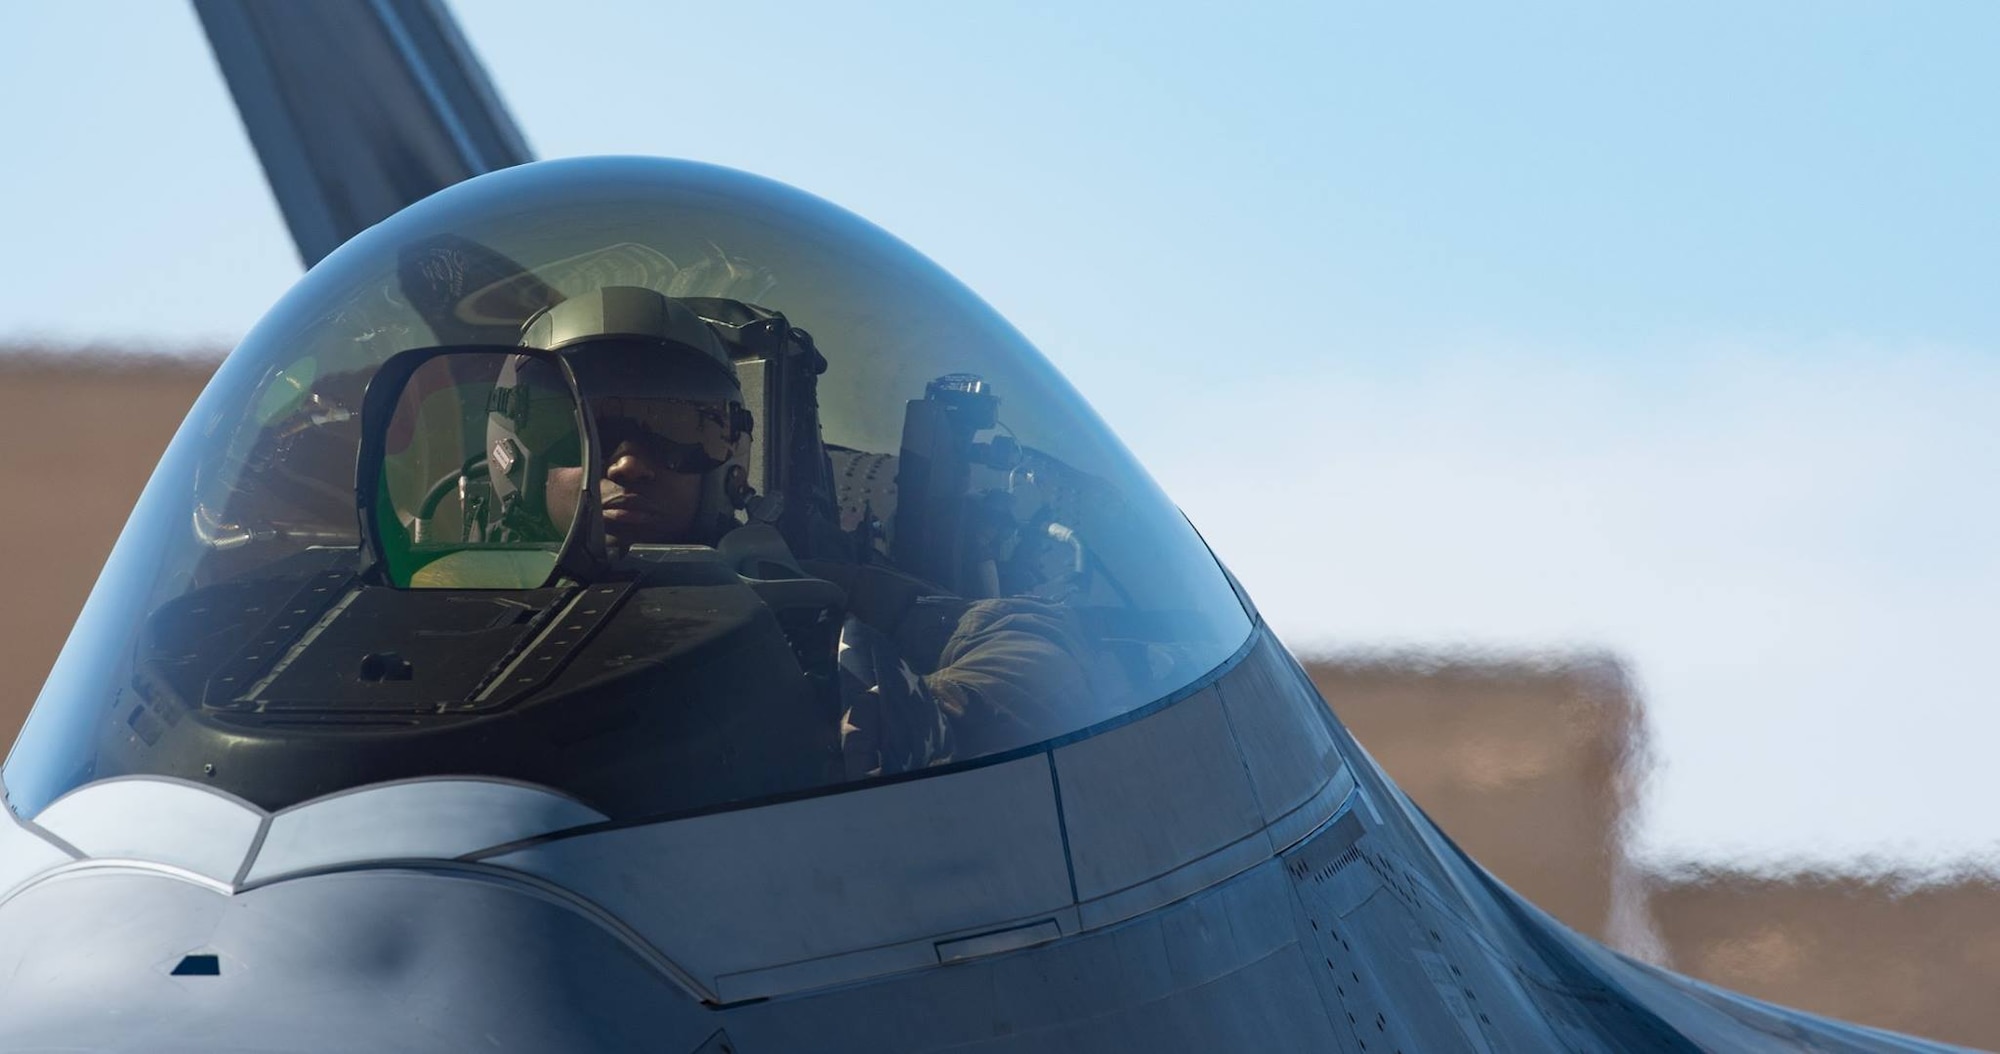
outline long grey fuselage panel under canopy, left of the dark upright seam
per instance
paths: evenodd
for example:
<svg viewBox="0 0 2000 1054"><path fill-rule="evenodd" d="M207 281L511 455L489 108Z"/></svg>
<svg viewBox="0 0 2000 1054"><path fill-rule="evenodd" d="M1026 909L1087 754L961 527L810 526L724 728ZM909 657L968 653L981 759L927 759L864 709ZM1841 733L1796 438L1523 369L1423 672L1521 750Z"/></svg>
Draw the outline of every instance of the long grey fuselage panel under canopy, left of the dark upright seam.
<svg viewBox="0 0 2000 1054"><path fill-rule="evenodd" d="M938 940L1072 906L1042 756L488 862L602 904L726 1002L936 964Z"/></svg>

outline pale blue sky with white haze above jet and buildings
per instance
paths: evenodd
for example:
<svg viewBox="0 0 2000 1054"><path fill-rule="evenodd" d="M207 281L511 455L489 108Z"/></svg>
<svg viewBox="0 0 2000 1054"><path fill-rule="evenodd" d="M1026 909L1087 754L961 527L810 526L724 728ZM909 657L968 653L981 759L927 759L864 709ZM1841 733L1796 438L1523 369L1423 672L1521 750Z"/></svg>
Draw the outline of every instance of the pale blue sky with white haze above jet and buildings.
<svg viewBox="0 0 2000 1054"><path fill-rule="evenodd" d="M1642 852L2000 850L2000 8L456 6L542 156L954 270L1294 648L1626 656ZM298 266L192 14L10 28L0 334L248 328Z"/></svg>

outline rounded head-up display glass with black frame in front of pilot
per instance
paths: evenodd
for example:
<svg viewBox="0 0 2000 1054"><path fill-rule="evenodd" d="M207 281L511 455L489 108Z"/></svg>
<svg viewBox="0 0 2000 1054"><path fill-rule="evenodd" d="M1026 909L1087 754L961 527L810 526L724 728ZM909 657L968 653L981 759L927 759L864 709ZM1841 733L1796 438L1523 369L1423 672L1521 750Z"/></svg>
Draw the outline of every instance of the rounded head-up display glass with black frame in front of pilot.
<svg viewBox="0 0 2000 1054"><path fill-rule="evenodd" d="M590 430L556 356L402 352L362 404L362 536L396 588L540 588L588 564L588 466Z"/></svg>

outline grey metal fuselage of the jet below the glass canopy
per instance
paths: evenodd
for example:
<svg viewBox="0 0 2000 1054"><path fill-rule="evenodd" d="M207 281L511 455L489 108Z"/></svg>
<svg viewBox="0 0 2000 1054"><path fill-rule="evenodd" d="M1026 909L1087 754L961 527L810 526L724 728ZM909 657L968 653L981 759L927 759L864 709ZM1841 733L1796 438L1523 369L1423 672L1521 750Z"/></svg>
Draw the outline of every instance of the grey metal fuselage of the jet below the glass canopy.
<svg viewBox="0 0 2000 1054"><path fill-rule="evenodd" d="M1222 700L1248 712L1248 692L1274 682L1310 692L1282 652L1264 654L1106 732L1110 748L1058 748L1054 768L1032 754L480 864L356 864L234 894L146 864L62 864L0 900L0 1050L1932 1048L1570 934L1450 848L1332 718L1346 756L1322 786L1356 786L1280 844L1236 740L1216 736ZM1170 768L1180 784L1146 774L1140 744L1186 760L1198 740L1236 768L1196 758ZM1080 780L1094 818L1070 816L1068 844L1054 770L1064 802L1072 774L1098 778ZM1244 856L1200 872L1246 814L1248 836L1222 846ZM1202 836L1130 840L1120 816ZM1084 838L1100 854L1128 838L1146 860L1130 874L1168 868L1148 880L1156 892L1204 878L1092 926L1084 908L1104 898L1078 906L1064 866ZM172 976L188 954L218 956L220 976ZM730 984L746 1002L718 994Z"/></svg>

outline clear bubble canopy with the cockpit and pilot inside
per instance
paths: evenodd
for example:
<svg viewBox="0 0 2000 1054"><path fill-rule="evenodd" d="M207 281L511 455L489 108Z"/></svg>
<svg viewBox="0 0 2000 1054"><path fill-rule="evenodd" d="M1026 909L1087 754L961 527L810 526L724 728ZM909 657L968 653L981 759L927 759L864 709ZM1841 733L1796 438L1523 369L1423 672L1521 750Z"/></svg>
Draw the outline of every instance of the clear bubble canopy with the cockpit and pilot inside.
<svg viewBox="0 0 2000 1054"><path fill-rule="evenodd" d="M168 448L4 772L278 810L430 776L614 820L980 764L1250 636L1062 376L870 224L548 162L316 266Z"/></svg>

